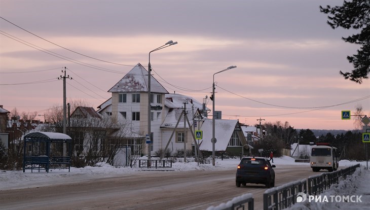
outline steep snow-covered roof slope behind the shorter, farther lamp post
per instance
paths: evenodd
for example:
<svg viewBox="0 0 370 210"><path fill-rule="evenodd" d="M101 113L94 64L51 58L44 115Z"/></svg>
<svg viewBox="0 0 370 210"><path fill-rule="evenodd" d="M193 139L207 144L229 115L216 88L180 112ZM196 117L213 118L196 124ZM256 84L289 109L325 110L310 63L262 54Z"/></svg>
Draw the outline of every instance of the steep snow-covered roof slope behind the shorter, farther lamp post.
<svg viewBox="0 0 370 210"><path fill-rule="evenodd" d="M237 122L238 120L215 120L215 151L226 150ZM200 130L203 130L200 150L212 151L212 119L205 119Z"/></svg>

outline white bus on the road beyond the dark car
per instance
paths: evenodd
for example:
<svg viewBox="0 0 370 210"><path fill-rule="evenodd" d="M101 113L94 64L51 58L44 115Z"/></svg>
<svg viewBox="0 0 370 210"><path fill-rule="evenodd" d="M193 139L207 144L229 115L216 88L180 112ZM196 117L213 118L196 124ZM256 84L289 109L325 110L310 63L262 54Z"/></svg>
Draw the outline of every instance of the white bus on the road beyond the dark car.
<svg viewBox="0 0 370 210"><path fill-rule="evenodd" d="M312 146L310 165L313 171L326 169L329 172L338 169L338 149L331 147L328 143L317 143Z"/></svg>

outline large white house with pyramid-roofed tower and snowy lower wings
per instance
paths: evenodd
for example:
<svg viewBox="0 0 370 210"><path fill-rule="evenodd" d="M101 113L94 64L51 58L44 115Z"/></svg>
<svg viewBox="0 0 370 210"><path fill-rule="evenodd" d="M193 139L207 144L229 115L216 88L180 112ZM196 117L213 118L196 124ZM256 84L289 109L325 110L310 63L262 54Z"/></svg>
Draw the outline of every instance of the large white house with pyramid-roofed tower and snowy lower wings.
<svg viewBox="0 0 370 210"><path fill-rule="evenodd" d="M112 98L102 103L97 111L101 115L112 116L125 124L130 130L131 137L144 140L147 132L147 74L146 69L138 63L127 73L115 86L109 89ZM186 114L190 123L180 118L186 106ZM192 149L194 130L203 130L203 139L211 139L211 120L204 118L203 104L193 97L181 94L168 93L168 91L152 76L151 77L151 131L152 153L159 149L183 150ZM195 118L195 120L193 120ZM185 123L185 124L184 124ZM177 124L177 127L176 127ZM196 124L196 126L195 126ZM227 148L248 149L246 139L237 120L216 120L216 145L218 151L226 151ZM239 129L239 130L238 130ZM171 138L172 135L172 138ZM147 149L142 148L146 154ZM201 150L211 151L205 142L201 144Z"/></svg>

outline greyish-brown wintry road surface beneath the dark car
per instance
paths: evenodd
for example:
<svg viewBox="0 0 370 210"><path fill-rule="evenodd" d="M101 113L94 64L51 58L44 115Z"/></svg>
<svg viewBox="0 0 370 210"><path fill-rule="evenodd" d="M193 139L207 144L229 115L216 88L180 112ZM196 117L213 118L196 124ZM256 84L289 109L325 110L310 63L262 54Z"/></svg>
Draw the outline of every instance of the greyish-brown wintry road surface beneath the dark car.
<svg viewBox="0 0 370 210"><path fill-rule="evenodd" d="M320 172L301 165L274 168L275 186ZM265 185L235 186L234 170L141 171L113 178L0 191L0 209L206 209L252 193L263 208Z"/></svg>

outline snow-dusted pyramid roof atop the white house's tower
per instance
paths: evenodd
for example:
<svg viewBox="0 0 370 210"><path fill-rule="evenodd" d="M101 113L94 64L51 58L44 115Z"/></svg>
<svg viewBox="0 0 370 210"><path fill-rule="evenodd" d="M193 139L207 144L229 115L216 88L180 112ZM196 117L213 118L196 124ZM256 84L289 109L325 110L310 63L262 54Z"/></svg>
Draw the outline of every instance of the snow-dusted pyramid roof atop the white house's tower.
<svg viewBox="0 0 370 210"><path fill-rule="evenodd" d="M138 63L108 92L147 92L148 72ZM168 91L151 76L152 93L168 93Z"/></svg>

